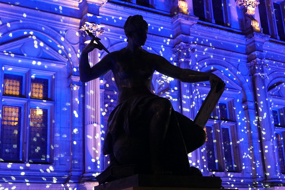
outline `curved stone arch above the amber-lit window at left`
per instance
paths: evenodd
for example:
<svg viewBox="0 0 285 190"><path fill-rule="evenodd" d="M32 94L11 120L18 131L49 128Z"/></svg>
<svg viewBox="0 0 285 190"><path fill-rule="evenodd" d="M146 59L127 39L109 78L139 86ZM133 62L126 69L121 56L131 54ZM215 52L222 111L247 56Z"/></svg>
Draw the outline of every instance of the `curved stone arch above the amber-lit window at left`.
<svg viewBox="0 0 285 190"><path fill-rule="evenodd" d="M33 33L38 33L38 34L45 36L47 39L50 39L52 42L55 42L56 45L58 46L63 46L64 49L61 49L61 50L66 55L66 58L68 59L66 63L68 75L72 75L72 66L79 65L79 59L73 47L66 40L62 41L61 39L62 38L64 39L64 37L60 33L58 33L56 30L50 28L49 26L46 26L43 24L34 24L33 22L28 22L28 21L17 20L17 21L9 22L9 26L7 24L2 24L0 26L0 31L2 32L2 35L1 35L2 37L9 35L10 33L13 34L15 32L21 32L21 31L23 31L23 36L24 36L25 35L24 32L32 31ZM71 57L68 56L69 53Z"/></svg>

